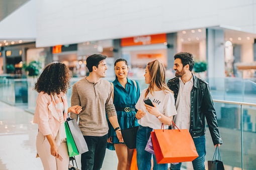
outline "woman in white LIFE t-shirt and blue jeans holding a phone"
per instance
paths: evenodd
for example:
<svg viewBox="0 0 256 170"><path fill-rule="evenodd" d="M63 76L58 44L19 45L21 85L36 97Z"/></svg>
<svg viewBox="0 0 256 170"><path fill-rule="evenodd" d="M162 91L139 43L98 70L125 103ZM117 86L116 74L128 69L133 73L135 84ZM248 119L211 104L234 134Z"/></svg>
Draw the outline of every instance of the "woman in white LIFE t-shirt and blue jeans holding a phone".
<svg viewBox="0 0 256 170"><path fill-rule="evenodd" d="M164 129L172 124L173 115L176 115L175 99L173 91L165 85L165 69L159 60L149 62L144 74L145 82L148 85L140 94L135 105L138 110L139 129L137 132L136 150L138 170L150 170L152 154L145 151L145 147L152 129ZM154 107L146 105L145 100L150 99ZM167 169L167 163L157 164L153 155L153 170Z"/></svg>

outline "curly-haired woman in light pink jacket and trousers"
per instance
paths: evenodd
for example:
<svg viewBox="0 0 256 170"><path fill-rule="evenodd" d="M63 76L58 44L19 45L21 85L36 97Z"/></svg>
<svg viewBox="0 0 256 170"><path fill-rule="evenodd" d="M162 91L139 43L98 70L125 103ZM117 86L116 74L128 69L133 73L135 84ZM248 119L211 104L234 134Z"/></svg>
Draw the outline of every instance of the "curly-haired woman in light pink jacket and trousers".
<svg viewBox="0 0 256 170"><path fill-rule="evenodd" d="M37 79L34 123L38 124L36 148L44 169L68 169L64 121L67 113L80 113L80 106L67 107L66 92L70 87L69 69L55 62L47 65Z"/></svg>

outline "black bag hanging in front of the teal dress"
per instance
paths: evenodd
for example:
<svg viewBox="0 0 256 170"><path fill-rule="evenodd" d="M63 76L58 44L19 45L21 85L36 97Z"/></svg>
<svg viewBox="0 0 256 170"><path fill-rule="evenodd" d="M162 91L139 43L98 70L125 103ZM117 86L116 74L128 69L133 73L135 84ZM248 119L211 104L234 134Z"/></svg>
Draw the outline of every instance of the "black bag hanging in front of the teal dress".
<svg viewBox="0 0 256 170"><path fill-rule="evenodd" d="M121 130L124 143L126 144L126 146L129 149L136 148L136 138L137 138L137 131L138 131L139 126L134 127L135 119L136 119L136 117L134 117L134 119L133 119L132 127Z"/></svg>

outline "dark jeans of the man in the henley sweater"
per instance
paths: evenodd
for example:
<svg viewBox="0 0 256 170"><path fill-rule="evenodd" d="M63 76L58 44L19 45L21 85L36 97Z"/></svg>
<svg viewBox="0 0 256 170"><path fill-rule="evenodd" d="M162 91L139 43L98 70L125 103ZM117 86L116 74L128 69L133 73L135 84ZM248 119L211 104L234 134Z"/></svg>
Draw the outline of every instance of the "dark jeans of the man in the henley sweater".
<svg viewBox="0 0 256 170"><path fill-rule="evenodd" d="M81 154L82 170L100 170L106 153L108 134L104 136L83 136L89 151Z"/></svg>

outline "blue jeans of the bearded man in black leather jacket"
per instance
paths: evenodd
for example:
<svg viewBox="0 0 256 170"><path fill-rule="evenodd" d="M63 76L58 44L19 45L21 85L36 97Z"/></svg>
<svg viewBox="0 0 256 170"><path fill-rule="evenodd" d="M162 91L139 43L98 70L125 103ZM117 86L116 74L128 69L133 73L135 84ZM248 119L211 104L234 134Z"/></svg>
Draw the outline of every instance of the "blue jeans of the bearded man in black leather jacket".
<svg viewBox="0 0 256 170"><path fill-rule="evenodd" d="M193 168L197 170L204 170L205 169L204 161L205 161L205 154L206 154L205 135L200 137L195 137L193 138L193 140L197 149L197 153L199 155L195 160L192 161ZM170 170L181 169L181 165L182 163L178 163L178 164L170 163Z"/></svg>

